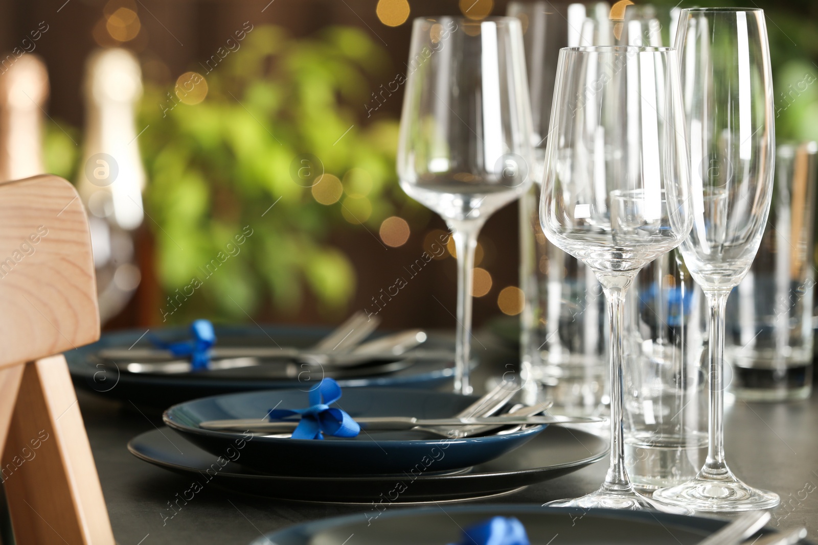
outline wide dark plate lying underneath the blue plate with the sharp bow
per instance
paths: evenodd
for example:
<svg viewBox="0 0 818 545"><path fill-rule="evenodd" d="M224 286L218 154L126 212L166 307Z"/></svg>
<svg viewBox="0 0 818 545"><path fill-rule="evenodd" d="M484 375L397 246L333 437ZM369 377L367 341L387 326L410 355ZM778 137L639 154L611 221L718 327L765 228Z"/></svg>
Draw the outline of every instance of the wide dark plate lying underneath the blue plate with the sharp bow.
<svg viewBox="0 0 818 545"><path fill-rule="evenodd" d="M608 444L586 431L549 426L519 449L466 471L402 477L308 477L285 471L265 475L237 462L218 460L167 428L134 437L128 450L156 466L197 479L205 476L213 485L235 492L289 501L371 505L383 498L389 503L447 502L513 492L605 458Z"/></svg>

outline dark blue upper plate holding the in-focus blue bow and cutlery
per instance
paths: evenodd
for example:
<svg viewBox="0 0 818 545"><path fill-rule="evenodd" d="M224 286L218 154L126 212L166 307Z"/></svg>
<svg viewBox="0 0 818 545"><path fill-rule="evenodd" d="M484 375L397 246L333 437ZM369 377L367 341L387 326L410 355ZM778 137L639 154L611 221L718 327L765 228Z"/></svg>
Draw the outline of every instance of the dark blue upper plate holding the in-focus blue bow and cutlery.
<svg viewBox="0 0 818 545"><path fill-rule="evenodd" d="M174 405L164 422L209 453L230 458L235 453L246 467L294 475L377 475L452 471L474 466L516 449L545 427L533 426L501 436L449 439L422 431L362 431L352 439L294 440L203 430L200 422L227 418L263 418L273 407L302 409L308 394L299 390L254 391L214 395ZM349 388L334 406L353 418L415 416L450 418L477 400L472 395L391 388ZM228 450L230 449L230 450ZM231 458L232 459L232 458Z"/></svg>

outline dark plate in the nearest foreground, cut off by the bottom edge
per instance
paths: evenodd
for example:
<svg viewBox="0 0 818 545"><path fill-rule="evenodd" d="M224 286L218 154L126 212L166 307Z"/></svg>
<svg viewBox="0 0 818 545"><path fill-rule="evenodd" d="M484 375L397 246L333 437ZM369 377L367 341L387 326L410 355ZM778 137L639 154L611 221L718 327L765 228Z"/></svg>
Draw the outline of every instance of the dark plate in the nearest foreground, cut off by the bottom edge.
<svg viewBox="0 0 818 545"><path fill-rule="evenodd" d="M353 535L355 538L349 543L354 545L445 545L460 543L463 528L492 516L517 517L525 526L532 545L694 545L728 523L728 520L655 511L582 511L513 504L438 506L384 512L374 520L369 520L367 513L317 520L267 534L250 545L345 543ZM762 534L774 531L763 529Z"/></svg>

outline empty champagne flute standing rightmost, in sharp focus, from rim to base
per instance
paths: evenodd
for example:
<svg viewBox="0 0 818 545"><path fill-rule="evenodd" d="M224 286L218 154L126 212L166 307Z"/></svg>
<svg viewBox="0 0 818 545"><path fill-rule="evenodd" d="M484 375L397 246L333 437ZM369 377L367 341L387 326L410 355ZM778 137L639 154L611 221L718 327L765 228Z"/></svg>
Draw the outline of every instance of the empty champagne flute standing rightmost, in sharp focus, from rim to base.
<svg viewBox="0 0 818 545"><path fill-rule="evenodd" d="M727 296L750 267L770 211L775 130L764 12L699 8L681 12L681 57L694 224L681 252L708 299L708 457L693 480L654 498L699 511L775 507L779 497L738 480L725 462L722 422Z"/></svg>

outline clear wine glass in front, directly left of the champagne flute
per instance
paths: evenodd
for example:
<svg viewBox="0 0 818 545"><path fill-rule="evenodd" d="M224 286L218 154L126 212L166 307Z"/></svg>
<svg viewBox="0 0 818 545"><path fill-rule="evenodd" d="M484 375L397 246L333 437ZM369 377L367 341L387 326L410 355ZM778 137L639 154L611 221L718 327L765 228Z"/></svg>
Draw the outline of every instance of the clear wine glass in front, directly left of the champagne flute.
<svg viewBox="0 0 818 545"><path fill-rule="evenodd" d="M552 243L596 273L610 319L611 453L602 487L559 507L657 507L628 479L622 438L625 294L690 231L690 177L676 51L560 50L540 218Z"/></svg>

